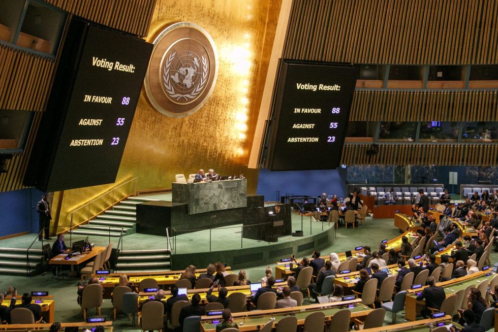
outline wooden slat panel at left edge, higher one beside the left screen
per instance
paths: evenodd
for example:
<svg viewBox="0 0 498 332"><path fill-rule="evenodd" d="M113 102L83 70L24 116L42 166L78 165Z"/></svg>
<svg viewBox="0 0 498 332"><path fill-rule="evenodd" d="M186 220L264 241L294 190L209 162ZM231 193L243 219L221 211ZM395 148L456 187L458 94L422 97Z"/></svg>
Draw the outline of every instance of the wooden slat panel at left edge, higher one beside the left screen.
<svg viewBox="0 0 498 332"><path fill-rule="evenodd" d="M0 44L0 109L42 111L54 62Z"/></svg>

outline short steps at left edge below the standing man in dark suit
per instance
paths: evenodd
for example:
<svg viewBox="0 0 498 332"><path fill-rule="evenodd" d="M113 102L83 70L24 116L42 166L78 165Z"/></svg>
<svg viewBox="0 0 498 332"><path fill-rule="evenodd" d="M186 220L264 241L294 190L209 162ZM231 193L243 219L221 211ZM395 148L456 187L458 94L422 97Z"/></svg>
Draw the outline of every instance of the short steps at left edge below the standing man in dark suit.
<svg viewBox="0 0 498 332"><path fill-rule="evenodd" d="M29 249L29 273L26 260L27 249L0 248L0 275L29 277L41 271L43 251Z"/></svg>

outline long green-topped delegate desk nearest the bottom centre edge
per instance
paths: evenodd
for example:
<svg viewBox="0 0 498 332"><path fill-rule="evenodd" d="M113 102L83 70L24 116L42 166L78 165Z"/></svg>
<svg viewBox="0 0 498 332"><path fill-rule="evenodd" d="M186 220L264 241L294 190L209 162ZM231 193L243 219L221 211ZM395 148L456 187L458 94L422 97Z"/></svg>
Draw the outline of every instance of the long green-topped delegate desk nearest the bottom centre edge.
<svg viewBox="0 0 498 332"><path fill-rule="evenodd" d="M273 319L273 328L278 322L288 316L293 315L297 318L297 324L302 326L306 317L317 310L325 314L325 322L330 321L331 317L339 310L348 308L348 305L353 305L351 310L351 318L360 318L368 315L373 309L362 305L361 299L344 302L333 302L324 304L313 304L301 307L291 307L282 309L259 310L251 312L232 313L233 321L237 323L241 331L260 330L264 324ZM245 316L245 317L244 317ZM201 316L201 330L204 332L215 332L216 324L213 321L220 321L222 316ZM243 324L241 324L243 323Z"/></svg>

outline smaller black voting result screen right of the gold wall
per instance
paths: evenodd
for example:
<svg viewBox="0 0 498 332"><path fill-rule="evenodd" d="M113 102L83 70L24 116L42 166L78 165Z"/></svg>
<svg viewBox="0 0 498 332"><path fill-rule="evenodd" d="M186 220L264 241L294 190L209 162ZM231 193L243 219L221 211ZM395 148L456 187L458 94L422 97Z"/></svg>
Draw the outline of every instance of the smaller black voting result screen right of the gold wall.
<svg viewBox="0 0 498 332"><path fill-rule="evenodd" d="M265 166L270 171L336 168L355 85L355 67L283 60Z"/></svg>

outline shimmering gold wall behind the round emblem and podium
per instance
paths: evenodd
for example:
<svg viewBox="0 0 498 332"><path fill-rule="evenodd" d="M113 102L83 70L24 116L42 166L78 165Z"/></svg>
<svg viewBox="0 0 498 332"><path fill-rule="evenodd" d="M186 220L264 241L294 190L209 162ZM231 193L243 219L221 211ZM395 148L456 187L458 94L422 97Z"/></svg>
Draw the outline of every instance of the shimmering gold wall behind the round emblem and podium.
<svg viewBox="0 0 498 332"><path fill-rule="evenodd" d="M138 177L139 191L169 188L175 174L188 177L213 168L223 175L244 174L248 192L256 192L258 170L246 164L280 6L278 0L157 1L146 40L152 42L174 22L202 26L219 56L216 86L207 103L185 118L156 111L142 89L116 184ZM71 210L112 186L56 193L59 225L67 223Z"/></svg>

